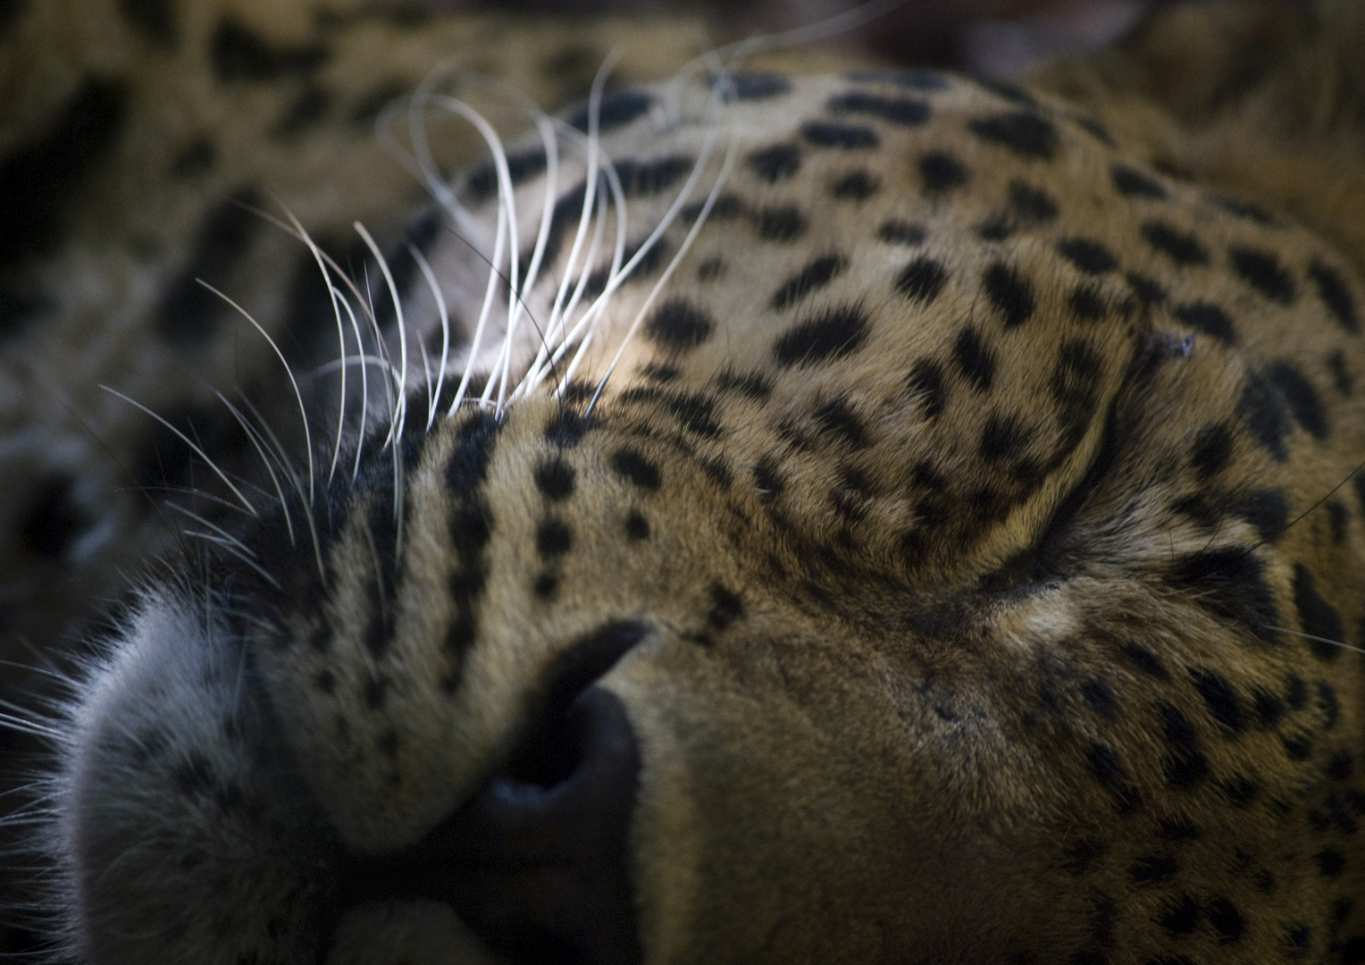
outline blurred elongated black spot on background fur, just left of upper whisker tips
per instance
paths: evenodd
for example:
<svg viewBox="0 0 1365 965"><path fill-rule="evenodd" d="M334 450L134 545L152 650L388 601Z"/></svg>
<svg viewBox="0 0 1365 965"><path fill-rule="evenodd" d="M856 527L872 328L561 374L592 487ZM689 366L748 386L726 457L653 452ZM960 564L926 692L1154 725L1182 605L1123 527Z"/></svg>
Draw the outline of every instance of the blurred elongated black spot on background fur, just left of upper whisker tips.
<svg viewBox="0 0 1365 965"><path fill-rule="evenodd" d="M167 341L182 347L202 345L231 311L218 295L199 284L199 278L218 288L225 285L263 224L244 206L254 201L254 192L243 192L220 202L205 216L190 262L167 285L156 308L156 332Z"/></svg>

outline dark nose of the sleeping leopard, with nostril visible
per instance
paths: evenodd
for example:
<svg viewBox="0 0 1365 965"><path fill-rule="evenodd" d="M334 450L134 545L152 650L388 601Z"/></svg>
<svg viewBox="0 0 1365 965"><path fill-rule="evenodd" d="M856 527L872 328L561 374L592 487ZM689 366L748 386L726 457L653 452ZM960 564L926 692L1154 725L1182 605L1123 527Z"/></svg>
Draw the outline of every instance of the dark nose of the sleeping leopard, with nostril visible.
<svg viewBox="0 0 1365 965"><path fill-rule="evenodd" d="M620 697L592 684L646 632L613 624L566 651L511 760L420 842L352 868L354 895L445 901L512 965L639 962L640 751Z"/></svg>

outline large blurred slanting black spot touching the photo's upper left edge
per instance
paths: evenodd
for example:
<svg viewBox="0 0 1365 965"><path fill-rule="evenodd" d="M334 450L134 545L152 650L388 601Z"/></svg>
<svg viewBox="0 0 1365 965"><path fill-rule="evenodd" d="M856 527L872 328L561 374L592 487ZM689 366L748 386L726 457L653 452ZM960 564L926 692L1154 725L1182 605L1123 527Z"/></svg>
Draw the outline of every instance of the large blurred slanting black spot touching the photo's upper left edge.
<svg viewBox="0 0 1365 965"><path fill-rule="evenodd" d="M119 142L127 112L123 86L89 78L41 141L0 160L0 269L57 243L64 209Z"/></svg>

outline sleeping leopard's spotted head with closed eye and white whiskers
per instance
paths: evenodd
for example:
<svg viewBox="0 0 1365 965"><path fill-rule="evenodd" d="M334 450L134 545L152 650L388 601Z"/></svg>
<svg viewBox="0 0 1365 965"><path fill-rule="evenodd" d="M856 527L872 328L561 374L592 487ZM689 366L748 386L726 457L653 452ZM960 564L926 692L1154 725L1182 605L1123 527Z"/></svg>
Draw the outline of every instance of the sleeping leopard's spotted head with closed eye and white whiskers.
<svg viewBox="0 0 1365 965"><path fill-rule="evenodd" d="M82 684L72 954L1355 961L1349 250L938 72L501 158Z"/></svg>

